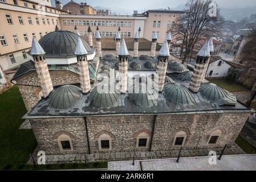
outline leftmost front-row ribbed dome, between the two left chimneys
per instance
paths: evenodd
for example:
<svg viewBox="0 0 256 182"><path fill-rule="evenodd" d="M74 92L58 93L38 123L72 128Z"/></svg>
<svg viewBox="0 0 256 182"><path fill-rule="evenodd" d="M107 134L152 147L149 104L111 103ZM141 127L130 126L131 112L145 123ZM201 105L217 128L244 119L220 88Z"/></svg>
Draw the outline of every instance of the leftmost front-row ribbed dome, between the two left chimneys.
<svg viewBox="0 0 256 182"><path fill-rule="evenodd" d="M83 97L82 89L75 85L63 85L54 89L49 96L52 109L74 109L78 100Z"/></svg>

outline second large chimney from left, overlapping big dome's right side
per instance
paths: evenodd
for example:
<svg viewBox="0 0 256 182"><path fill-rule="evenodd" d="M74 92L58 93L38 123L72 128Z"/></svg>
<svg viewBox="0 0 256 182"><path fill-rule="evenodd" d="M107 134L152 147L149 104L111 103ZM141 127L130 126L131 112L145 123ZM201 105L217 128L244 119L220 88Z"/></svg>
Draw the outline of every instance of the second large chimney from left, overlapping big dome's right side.
<svg viewBox="0 0 256 182"><path fill-rule="evenodd" d="M83 93L87 93L91 90L87 54L88 52L84 47L82 40L79 37L78 44L76 44L75 55L78 61L79 80L80 80L80 86L82 88Z"/></svg>

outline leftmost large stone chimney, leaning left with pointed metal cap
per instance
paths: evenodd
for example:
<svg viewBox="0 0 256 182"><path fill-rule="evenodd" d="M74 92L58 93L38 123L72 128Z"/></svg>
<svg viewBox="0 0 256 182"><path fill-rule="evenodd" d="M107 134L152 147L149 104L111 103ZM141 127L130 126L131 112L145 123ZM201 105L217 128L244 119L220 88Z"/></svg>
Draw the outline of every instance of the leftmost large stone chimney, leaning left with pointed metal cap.
<svg viewBox="0 0 256 182"><path fill-rule="evenodd" d="M50 73L46 63L45 52L35 38L32 40L31 55L34 59L36 73L40 80L43 97L45 98L54 88L52 86Z"/></svg>

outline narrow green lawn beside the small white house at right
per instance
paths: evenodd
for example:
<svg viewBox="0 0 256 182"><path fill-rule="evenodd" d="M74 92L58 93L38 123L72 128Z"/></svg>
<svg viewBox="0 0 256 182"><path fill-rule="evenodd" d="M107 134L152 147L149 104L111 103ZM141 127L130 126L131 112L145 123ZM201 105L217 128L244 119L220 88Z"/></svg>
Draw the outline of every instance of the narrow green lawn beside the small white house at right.
<svg viewBox="0 0 256 182"><path fill-rule="evenodd" d="M221 86L222 88L226 89L229 92L249 90L241 84L238 84L236 82L230 82L225 79L208 78L207 80L209 80L210 82L218 86Z"/></svg>

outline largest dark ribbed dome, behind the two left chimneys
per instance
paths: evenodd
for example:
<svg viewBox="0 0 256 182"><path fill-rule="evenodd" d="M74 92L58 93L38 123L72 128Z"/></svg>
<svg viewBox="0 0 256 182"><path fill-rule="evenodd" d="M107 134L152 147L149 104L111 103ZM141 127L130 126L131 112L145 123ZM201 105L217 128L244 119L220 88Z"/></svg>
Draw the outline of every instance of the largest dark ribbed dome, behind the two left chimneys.
<svg viewBox="0 0 256 182"><path fill-rule="evenodd" d="M76 44L78 43L79 35L70 31L54 31L43 36L39 40L40 46L46 52L48 58L67 58L74 57ZM94 53L94 48L91 48L89 44L80 37L84 47L88 53Z"/></svg>

